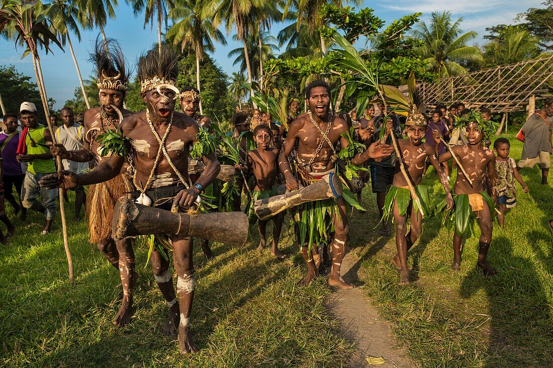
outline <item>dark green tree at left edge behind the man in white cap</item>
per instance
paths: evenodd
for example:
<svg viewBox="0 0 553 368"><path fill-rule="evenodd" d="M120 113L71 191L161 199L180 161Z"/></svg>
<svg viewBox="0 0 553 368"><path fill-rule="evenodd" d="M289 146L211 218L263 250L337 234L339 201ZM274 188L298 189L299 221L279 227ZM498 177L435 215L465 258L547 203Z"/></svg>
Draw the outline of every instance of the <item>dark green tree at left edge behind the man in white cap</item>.
<svg viewBox="0 0 553 368"><path fill-rule="evenodd" d="M45 119L38 87L30 77L18 72L13 65L1 65L0 86L6 112L18 114L21 103L29 101L35 104L39 119Z"/></svg>

